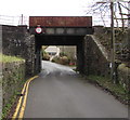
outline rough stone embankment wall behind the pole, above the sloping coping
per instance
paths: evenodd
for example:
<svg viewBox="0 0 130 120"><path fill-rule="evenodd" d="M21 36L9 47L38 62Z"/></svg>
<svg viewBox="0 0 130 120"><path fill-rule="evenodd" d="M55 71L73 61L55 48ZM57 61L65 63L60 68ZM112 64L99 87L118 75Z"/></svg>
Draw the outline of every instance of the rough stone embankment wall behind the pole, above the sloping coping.
<svg viewBox="0 0 130 120"><path fill-rule="evenodd" d="M102 45L105 46L110 54L112 48L112 28L103 26L94 26L94 36L100 40ZM127 62L130 66L130 30L115 28L115 58L121 62Z"/></svg>

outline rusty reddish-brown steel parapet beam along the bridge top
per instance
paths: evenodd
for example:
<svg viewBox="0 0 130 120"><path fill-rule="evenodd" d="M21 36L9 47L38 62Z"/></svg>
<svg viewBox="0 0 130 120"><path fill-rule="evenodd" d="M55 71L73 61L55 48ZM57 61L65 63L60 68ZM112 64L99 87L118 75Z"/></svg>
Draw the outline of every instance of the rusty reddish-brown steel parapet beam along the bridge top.
<svg viewBox="0 0 130 120"><path fill-rule="evenodd" d="M36 27L92 27L91 16L29 16L29 26Z"/></svg>

